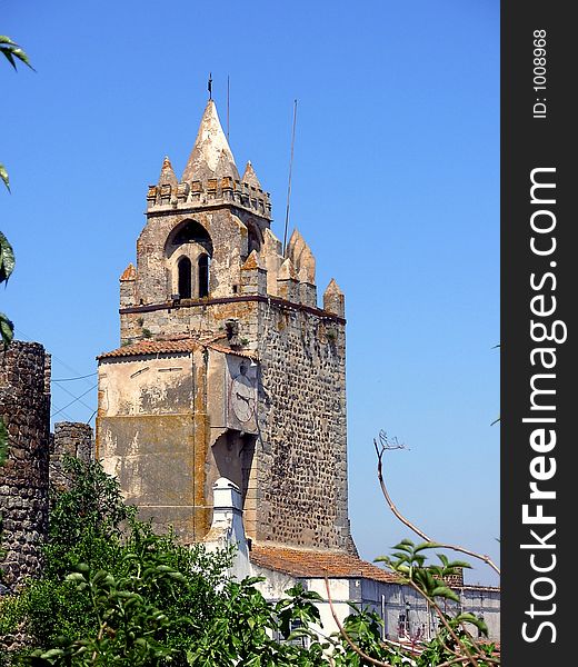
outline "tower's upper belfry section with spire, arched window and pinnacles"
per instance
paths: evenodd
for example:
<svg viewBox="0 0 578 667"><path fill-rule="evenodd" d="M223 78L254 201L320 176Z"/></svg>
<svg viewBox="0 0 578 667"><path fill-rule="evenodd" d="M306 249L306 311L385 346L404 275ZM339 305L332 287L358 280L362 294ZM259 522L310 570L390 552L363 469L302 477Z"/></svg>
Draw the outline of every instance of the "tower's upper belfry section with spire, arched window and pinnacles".
<svg viewBox="0 0 578 667"><path fill-rule="evenodd" d="M237 169L212 100L182 175L165 157L147 203L136 266L120 277L123 342L190 335L208 307L229 301L327 311L311 248L297 229L285 247L276 237L269 193L250 161ZM339 296L327 302L329 315L342 312Z"/></svg>

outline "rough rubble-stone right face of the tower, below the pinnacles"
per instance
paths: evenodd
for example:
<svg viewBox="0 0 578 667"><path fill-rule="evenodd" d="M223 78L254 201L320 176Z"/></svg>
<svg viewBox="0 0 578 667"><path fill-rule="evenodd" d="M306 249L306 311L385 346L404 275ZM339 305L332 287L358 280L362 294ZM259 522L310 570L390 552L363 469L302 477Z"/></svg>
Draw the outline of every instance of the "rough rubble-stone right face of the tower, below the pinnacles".
<svg viewBox="0 0 578 667"><path fill-rule="evenodd" d="M345 322L262 306L258 541L355 552Z"/></svg>

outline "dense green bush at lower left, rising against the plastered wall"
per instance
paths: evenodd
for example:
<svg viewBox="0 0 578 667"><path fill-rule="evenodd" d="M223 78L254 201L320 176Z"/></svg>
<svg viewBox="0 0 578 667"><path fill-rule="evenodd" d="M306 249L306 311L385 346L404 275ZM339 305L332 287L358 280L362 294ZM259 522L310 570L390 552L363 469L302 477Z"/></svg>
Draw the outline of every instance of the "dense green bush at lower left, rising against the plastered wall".
<svg viewBox="0 0 578 667"><path fill-rule="evenodd" d="M24 624L37 641L22 664L325 664L317 641L291 643L313 637L319 596L296 587L272 605L256 579L227 578L230 554L180 546L138 521L99 462L67 458L63 472L43 576L2 603L0 635Z"/></svg>

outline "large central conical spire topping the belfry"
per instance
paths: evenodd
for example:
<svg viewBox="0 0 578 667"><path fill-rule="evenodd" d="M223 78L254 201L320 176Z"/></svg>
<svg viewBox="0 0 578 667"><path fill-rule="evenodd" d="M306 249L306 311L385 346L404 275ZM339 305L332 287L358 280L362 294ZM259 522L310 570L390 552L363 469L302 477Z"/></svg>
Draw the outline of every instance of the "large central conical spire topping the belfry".
<svg viewBox="0 0 578 667"><path fill-rule="evenodd" d="M219 121L217 107L212 100L209 100L182 180L206 182L210 178L226 176L240 180L235 158Z"/></svg>

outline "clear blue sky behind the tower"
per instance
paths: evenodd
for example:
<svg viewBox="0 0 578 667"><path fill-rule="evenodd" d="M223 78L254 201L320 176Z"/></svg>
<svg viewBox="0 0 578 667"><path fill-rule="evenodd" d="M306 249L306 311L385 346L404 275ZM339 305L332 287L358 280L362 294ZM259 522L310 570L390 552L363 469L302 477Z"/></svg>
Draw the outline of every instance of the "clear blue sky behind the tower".
<svg viewBox="0 0 578 667"><path fill-rule="evenodd" d="M147 186L166 153L180 176L209 71L223 123L230 77L231 148L271 192L279 237L297 98L290 227L320 291L335 277L347 298L360 554L409 536L375 475L385 429L409 447L387 460L398 507L497 558L499 2L14 0L0 16L37 69L0 68L0 228L18 261L0 309L53 354L53 377L117 346ZM54 384L56 419L88 420L93 385Z"/></svg>

